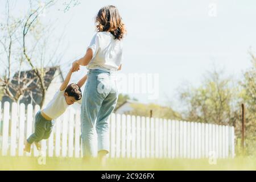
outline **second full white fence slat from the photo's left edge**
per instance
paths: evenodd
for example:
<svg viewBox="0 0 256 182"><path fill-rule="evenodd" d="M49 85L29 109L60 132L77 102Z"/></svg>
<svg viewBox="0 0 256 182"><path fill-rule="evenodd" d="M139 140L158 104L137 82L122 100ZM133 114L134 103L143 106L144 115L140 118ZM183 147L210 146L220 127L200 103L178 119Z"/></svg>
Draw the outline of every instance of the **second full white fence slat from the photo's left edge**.
<svg viewBox="0 0 256 182"><path fill-rule="evenodd" d="M11 104L11 156L16 155L16 130L18 122L18 106L15 102Z"/></svg>

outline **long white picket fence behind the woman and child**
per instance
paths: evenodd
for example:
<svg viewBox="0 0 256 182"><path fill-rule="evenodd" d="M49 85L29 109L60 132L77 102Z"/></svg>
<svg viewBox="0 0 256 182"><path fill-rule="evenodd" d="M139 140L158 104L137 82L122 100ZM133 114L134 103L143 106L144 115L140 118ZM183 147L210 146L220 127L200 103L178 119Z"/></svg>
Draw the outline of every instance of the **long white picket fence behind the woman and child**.
<svg viewBox="0 0 256 182"><path fill-rule="evenodd" d="M1 102L0 102L0 108ZM26 110L25 110L26 109ZM34 115L39 106L5 102L0 112L2 155L38 156L23 152L24 140L34 131ZM110 123L110 158L233 158L234 127L208 123L171 121L169 119L112 114ZM1 128L1 127L0 127ZM69 109L56 119L48 140L42 140L47 156L82 156L80 110ZM97 146L97 144L96 144Z"/></svg>

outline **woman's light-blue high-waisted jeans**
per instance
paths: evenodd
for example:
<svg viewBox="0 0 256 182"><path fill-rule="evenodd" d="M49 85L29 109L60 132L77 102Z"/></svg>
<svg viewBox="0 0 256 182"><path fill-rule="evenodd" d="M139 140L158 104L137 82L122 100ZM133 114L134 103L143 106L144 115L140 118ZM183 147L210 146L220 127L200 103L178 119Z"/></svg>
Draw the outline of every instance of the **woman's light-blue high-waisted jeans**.
<svg viewBox="0 0 256 182"><path fill-rule="evenodd" d="M109 123L118 99L115 72L90 69L82 96L81 138L82 155L93 155L93 131L98 135L98 151L109 152Z"/></svg>

